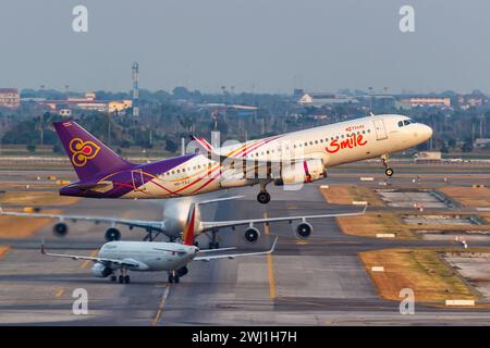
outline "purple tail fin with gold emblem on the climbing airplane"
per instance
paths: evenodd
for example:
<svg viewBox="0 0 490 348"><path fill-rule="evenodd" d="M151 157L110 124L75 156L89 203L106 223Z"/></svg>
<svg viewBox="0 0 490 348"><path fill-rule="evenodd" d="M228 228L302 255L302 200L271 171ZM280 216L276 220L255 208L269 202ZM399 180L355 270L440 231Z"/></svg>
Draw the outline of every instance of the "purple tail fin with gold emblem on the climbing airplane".
<svg viewBox="0 0 490 348"><path fill-rule="evenodd" d="M53 126L81 181L133 165L74 121L54 122Z"/></svg>

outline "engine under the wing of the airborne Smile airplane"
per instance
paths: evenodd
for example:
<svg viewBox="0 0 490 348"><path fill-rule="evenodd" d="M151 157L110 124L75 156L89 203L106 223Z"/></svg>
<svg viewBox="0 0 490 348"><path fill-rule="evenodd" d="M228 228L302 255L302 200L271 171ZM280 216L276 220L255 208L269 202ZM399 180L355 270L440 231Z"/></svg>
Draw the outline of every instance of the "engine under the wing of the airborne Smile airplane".
<svg viewBox="0 0 490 348"><path fill-rule="evenodd" d="M281 186L310 183L326 176L323 161L314 159L284 166L280 177L274 179L274 184Z"/></svg>

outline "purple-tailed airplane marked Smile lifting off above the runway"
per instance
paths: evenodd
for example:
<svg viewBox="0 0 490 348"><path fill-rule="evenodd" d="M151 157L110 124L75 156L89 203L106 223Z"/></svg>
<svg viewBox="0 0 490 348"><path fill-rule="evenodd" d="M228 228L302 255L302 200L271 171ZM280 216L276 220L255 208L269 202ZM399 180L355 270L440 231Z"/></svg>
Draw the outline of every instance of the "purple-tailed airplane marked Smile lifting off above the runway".
<svg viewBox="0 0 490 348"><path fill-rule="evenodd" d="M205 152L148 164L131 163L74 121L53 123L79 181L62 196L90 198L172 198L260 185L257 200L268 203L266 186L297 185L327 177L327 169L381 158L388 176L390 153L426 141L432 129L396 114L371 115L212 148L195 137Z"/></svg>

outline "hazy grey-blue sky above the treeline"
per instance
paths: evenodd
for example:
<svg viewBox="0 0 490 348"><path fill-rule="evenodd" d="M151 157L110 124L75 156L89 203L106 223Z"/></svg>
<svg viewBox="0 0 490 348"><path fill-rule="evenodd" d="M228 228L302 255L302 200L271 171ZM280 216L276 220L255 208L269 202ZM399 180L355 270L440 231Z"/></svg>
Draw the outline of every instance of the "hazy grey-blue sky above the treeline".
<svg viewBox="0 0 490 348"><path fill-rule="evenodd" d="M488 0L2 1L0 87L126 91L137 61L150 90L490 94L489 17Z"/></svg>

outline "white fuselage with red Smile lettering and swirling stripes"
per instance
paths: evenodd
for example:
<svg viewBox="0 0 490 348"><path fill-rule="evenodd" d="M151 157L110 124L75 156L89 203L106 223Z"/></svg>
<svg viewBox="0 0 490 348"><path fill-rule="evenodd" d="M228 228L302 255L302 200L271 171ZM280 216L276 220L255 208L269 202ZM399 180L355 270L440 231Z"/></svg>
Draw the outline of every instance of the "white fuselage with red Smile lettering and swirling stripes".
<svg viewBox="0 0 490 348"><path fill-rule="evenodd" d="M427 125L404 115L385 114L229 145L216 152L221 157L248 161L321 159L327 169L403 151L426 141L431 135L432 129ZM196 156L161 173L146 183L143 189L131 191L124 198L194 196L229 188L223 183L229 179L230 171L233 172L233 167L230 169L226 163ZM242 186L246 185L250 183Z"/></svg>

